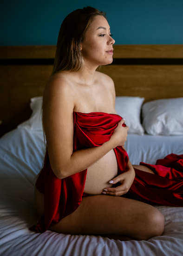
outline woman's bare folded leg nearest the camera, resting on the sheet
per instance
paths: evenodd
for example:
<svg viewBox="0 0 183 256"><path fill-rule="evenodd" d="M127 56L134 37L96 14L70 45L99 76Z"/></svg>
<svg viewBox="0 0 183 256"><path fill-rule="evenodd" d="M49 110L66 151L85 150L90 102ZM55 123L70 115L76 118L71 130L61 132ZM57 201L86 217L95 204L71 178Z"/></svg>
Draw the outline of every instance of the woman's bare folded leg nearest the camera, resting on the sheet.
<svg viewBox="0 0 183 256"><path fill-rule="evenodd" d="M80 206L50 230L70 235L126 235L147 240L163 233L164 217L143 202L111 195L84 197Z"/></svg>

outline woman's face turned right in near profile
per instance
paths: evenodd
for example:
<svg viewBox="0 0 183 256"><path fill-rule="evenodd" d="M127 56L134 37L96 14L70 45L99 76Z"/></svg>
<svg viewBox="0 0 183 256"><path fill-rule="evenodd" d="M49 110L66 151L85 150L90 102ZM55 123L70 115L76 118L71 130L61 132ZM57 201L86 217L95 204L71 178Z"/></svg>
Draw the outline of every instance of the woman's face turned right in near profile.
<svg viewBox="0 0 183 256"><path fill-rule="evenodd" d="M86 65L97 68L99 65L110 64L114 43L107 20L103 16L96 16L81 43L80 49Z"/></svg>

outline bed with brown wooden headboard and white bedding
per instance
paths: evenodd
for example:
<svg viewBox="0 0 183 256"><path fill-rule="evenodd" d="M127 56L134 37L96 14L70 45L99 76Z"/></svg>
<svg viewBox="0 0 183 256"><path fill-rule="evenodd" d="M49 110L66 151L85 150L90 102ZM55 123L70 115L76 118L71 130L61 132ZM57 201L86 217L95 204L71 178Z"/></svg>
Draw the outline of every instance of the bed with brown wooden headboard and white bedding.
<svg viewBox="0 0 183 256"><path fill-rule="evenodd" d="M0 48L0 255L182 256L181 207L152 204L164 215L165 228L162 236L148 241L120 242L94 235L64 235L49 230L40 234L28 229L38 220L33 190L44 159L38 109L44 84L52 71L54 52L55 46ZM103 66L100 71L114 80L117 102L120 97L123 102L134 102L134 98L139 98L138 122L143 124L142 127L145 127L147 106L150 107L153 101L155 109L162 99L179 101L179 113L173 118L175 122L180 121L183 112L183 45L115 46L113 64ZM176 104L168 103L177 109ZM122 111L127 117L129 109L126 113ZM133 109L131 112L135 118ZM166 117L164 115L167 121ZM147 120L146 123L150 122ZM162 135L162 131L152 135L146 132L152 132L150 127L146 127L145 132L137 132L132 130L133 124L129 125L131 132L125 149L132 164L140 161L155 164L157 159L168 154L183 154L181 131L172 134L171 129L169 133L165 129L166 135Z"/></svg>

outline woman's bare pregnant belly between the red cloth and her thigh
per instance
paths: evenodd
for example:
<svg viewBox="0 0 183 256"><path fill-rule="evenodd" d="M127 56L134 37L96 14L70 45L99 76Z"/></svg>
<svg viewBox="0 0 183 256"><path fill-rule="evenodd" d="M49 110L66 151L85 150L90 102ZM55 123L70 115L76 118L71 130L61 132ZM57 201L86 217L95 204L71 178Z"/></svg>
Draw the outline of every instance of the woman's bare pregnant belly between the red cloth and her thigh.
<svg viewBox="0 0 183 256"><path fill-rule="evenodd" d="M87 170L84 192L101 194L103 188L112 187L109 183L118 174L116 155L112 149Z"/></svg>

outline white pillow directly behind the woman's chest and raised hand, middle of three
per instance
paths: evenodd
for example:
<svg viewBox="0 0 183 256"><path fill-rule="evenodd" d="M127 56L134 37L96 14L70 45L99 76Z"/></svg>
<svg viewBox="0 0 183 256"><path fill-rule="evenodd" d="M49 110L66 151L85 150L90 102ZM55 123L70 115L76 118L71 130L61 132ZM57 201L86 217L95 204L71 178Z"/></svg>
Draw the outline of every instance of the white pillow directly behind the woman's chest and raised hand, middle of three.
<svg viewBox="0 0 183 256"><path fill-rule="evenodd" d="M144 98L140 97L116 97L115 109L119 116L125 118L125 124L129 126L129 133L144 134L144 128L140 123L140 112Z"/></svg>

